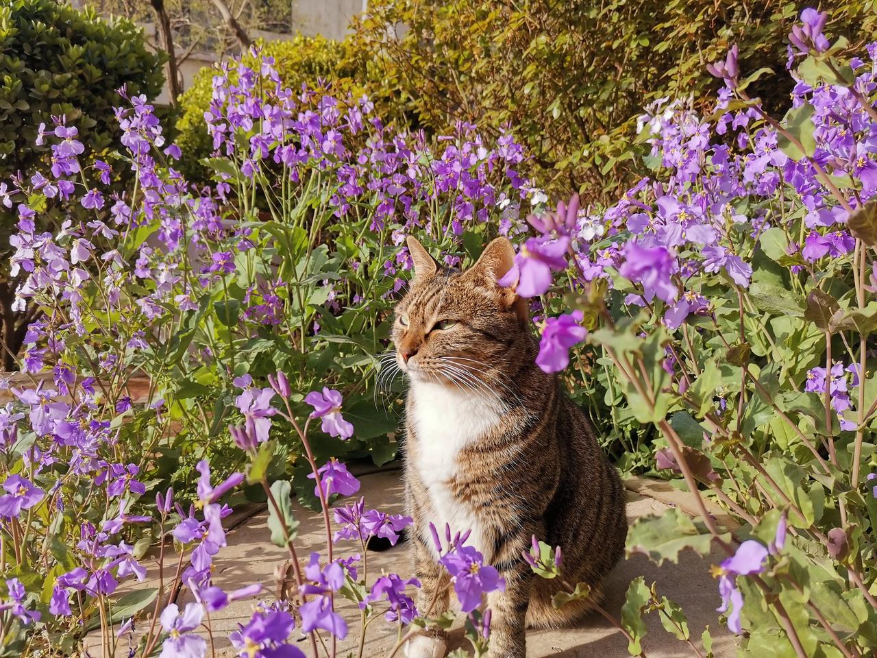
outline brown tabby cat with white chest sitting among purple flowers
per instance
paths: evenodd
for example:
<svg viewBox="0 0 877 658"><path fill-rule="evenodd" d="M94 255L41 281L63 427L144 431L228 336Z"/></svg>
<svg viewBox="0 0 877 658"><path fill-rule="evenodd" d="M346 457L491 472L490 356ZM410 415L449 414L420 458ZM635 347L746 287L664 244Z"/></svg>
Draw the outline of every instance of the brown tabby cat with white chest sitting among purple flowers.
<svg viewBox="0 0 877 658"><path fill-rule="evenodd" d="M563 548L561 575L588 583L594 601L624 551L624 488L560 379L535 363L527 303L497 283L512 266L509 240L488 244L466 271L442 268L413 237L410 290L396 305L396 363L410 380L405 411L405 493L417 610L450 604L430 523L471 531L467 544L505 580L488 594L490 658L524 658L524 627L568 624L588 611L555 610L556 580L535 576L522 551L536 535ZM446 636L408 640L408 658L441 658Z"/></svg>

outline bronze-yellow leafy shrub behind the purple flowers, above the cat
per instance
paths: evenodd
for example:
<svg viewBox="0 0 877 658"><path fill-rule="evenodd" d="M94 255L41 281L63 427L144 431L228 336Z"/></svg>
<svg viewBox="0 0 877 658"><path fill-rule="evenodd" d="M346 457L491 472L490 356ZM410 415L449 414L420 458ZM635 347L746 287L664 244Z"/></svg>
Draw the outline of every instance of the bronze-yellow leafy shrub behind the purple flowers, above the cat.
<svg viewBox="0 0 877 658"><path fill-rule="evenodd" d="M831 29L853 45L877 28L873 0L829 5ZM783 40L798 8L760 0L377 0L343 44L304 41L276 46L275 56L282 68L289 61L291 82L329 47L342 89L353 77L381 116L433 133L460 120L494 134L510 125L547 190L606 202L644 172L635 125L645 105L694 95L702 109L715 89L704 65L732 43L752 70L770 68L753 85L766 108L788 109ZM201 133L209 76L187 98L184 132Z"/></svg>

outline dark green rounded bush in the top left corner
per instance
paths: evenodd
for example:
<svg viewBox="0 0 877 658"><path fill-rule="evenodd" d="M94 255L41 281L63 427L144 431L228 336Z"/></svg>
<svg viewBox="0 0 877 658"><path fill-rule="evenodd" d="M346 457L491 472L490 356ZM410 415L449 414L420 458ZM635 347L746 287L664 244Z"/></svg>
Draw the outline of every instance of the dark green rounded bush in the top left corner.
<svg viewBox="0 0 877 658"><path fill-rule="evenodd" d="M53 0L14 0L0 7L0 179L30 175L51 158L39 146L41 124L65 117L79 131L83 161L118 147L113 106L117 89L153 98L164 80L160 56L146 50L142 30L123 19L105 21ZM51 130L51 128L50 128ZM11 183L14 185L14 183ZM50 200L48 202L52 204ZM0 204L0 258L11 254L15 216ZM47 216L44 216L47 219ZM60 225L53 217L46 225ZM18 281L0 277L3 363L14 367L27 316L11 311ZM33 311L37 312L37 311Z"/></svg>

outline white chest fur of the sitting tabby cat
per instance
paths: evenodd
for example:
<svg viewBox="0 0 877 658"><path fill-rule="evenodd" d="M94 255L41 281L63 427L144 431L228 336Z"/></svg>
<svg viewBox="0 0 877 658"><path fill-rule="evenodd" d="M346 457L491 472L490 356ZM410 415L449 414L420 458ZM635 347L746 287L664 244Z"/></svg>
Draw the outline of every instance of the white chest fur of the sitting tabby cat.
<svg viewBox="0 0 877 658"><path fill-rule="evenodd" d="M488 546L474 508L455 497L448 484L460 468L460 450L496 426L501 411L489 398L439 383L412 382L410 396L417 436L410 458L429 491L431 509L425 511L426 517L443 538L445 524L451 526L452 533L471 530L467 544L489 561L488 548L492 546Z"/></svg>

